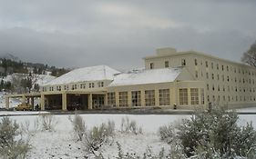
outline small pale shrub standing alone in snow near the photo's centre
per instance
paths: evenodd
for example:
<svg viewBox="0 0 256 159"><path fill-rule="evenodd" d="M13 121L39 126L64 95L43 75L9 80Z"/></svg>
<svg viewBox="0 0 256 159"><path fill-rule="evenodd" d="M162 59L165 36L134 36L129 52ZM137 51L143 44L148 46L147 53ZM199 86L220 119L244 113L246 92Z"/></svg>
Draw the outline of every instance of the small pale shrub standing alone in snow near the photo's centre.
<svg viewBox="0 0 256 159"><path fill-rule="evenodd" d="M142 134L142 127L138 128L136 121L130 121L127 116L126 118L122 118L121 132L131 134Z"/></svg>

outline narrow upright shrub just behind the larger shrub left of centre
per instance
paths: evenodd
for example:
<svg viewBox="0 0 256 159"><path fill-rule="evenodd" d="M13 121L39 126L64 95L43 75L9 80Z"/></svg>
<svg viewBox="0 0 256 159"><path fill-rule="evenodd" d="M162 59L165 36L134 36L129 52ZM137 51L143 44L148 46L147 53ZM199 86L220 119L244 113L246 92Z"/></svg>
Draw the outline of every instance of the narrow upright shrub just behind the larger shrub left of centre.
<svg viewBox="0 0 256 159"><path fill-rule="evenodd" d="M78 140L82 141L87 129L85 121L79 114L75 114L74 119L72 119L70 116L68 117L68 119L73 124L73 129L77 134Z"/></svg>

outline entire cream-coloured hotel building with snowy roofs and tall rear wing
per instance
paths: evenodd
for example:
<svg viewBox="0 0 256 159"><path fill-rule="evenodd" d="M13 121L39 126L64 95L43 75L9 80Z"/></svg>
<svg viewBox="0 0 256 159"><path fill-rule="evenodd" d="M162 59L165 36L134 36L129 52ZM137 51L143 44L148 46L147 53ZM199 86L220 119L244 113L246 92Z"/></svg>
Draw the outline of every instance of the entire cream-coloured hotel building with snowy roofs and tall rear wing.
<svg viewBox="0 0 256 159"><path fill-rule="evenodd" d="M157 49L145 69L120 73L107 65L73 70L41 88L41 108L206 108L256 104L256 69L195 51Z"/></svg>

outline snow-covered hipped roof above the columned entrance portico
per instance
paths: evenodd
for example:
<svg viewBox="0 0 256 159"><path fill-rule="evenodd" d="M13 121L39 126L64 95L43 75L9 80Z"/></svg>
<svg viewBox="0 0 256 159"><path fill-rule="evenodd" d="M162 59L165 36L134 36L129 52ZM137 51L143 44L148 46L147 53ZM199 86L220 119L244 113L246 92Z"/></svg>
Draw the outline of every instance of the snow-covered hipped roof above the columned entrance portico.
<svg viewBox="0 0 256 159"><path fill-rule="evenodd" d="M107 65L78 68L61 75L45 85L70 84L85 81L113 80L114 75L119 74L117 70Z"/></svg>

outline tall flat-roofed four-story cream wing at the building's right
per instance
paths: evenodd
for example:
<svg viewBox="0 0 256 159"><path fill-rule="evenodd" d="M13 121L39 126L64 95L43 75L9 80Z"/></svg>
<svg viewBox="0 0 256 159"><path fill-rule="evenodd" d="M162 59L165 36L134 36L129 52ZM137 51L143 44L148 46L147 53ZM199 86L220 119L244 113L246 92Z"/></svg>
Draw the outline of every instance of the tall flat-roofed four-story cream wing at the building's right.
<svg viewBox="0 0 256 159"><path fill-rule="evenodd" d="M232 106L256 103L256 69L195 51L160 48L144 58L146 69L184 66L196 81L204 81L206 101Z"/></svg>

